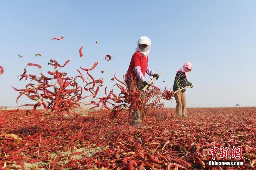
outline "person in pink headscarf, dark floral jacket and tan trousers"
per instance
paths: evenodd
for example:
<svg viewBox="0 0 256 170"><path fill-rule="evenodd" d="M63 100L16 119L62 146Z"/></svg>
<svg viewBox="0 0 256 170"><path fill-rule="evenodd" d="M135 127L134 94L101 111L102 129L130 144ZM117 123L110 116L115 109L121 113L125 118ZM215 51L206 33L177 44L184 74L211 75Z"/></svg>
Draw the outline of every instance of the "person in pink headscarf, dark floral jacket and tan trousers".
<svg viewBox="0 0 256 170"><path fill-rule="evenodd" d="M173 91L180 90L181 88L185 88L187 86L194 85L187 80L188 73L192 70L193 65L190 62L186 62L182 68L177 70ZM181 116L183 118L187 118L187 108L186 108L186 96L185 96L185 89L180 90L179 92L174 94L174 98L176 100L176 115Z"/></svg>

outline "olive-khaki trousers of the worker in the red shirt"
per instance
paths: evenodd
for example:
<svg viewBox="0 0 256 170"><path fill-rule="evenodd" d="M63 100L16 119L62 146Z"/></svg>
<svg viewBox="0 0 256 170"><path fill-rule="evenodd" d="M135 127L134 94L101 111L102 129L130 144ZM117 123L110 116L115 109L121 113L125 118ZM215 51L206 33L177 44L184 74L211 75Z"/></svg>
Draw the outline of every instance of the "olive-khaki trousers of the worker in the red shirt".
<svg viewBox="0 0 256 170"><path fill-rule="evenodd" d="M128 89L130 89L131 78L127 77L125 82L127 84ZM136 89L136 87L134 85L132 85L131 88ZM144 88L144 85L141 81L137 81L137 88L139 90L142 90ZM140 96L140 98L143 100L143 105L144 105L144 102L145 102L145 99L146 99L145 94L142 94ZM133 110L133 112L132 112L132 124L141 122L142 112L143 112L143 110Z"/></svg>

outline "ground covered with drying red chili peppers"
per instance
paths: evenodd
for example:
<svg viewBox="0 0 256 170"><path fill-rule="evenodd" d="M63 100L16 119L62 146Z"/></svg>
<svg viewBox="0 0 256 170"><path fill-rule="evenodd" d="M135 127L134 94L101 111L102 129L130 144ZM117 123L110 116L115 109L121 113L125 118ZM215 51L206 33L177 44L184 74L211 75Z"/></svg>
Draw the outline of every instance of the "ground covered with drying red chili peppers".
<svg viewBox="0 0 256 170"><path fill-rule="evenodd" d="M256 108L189 108L188 119L175 116L175 109L166 111L148 111L142 119L146 127L133 128L129 111L123 111L122 122L109 118L105 109L62 120L38 110L39 119L47 122L42 129L33 113L0 110L6 113L0 169L255 169ZM213 145L242 146L243 159L229 160L244 166L209 167ZM215 158L225 160L219 153Z"/></svg>

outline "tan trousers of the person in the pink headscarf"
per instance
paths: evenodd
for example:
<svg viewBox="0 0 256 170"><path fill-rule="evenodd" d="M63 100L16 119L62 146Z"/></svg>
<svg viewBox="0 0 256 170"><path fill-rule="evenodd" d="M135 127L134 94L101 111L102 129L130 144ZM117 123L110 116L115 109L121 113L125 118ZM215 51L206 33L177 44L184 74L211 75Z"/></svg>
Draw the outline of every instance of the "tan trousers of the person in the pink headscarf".
<svg viewBox="0 0 256 170"><path fill-rule="evenodd" d="M185 92L177 92L174 94L176 100L176 115L187 118L187 108L186 108L186 95Z"/></svg>

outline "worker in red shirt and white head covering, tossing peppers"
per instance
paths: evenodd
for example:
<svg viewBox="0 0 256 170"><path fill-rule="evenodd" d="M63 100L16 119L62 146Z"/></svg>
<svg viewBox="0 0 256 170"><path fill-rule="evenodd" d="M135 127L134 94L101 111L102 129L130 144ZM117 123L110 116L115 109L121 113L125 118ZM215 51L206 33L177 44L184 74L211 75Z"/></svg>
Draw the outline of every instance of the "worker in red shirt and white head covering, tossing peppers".
<svg viewBox="0 0 256 170"><path fill-rule="evenodd" d="M155 74L155 72L152 71L148 66L148 54L150 46L151 40L148 37L142 36L139 38L136 52L131 57L131 62L125 75L125 82L127 84L128 89L130 89L131 77L133 77L133 79L136 80L138 90L142 90L146 85L149 86L148 82L145 79L145 73L147 73L149 76L153 76L156 77L156 79L158 79L159 75ZM136 89L133 86L131 88ZM143 99L143 102L145 102L145 94L141 95L141 99ZM143 110L133 110L133 127L143 127L143 125L140 124L142 111Z"/></svg>

